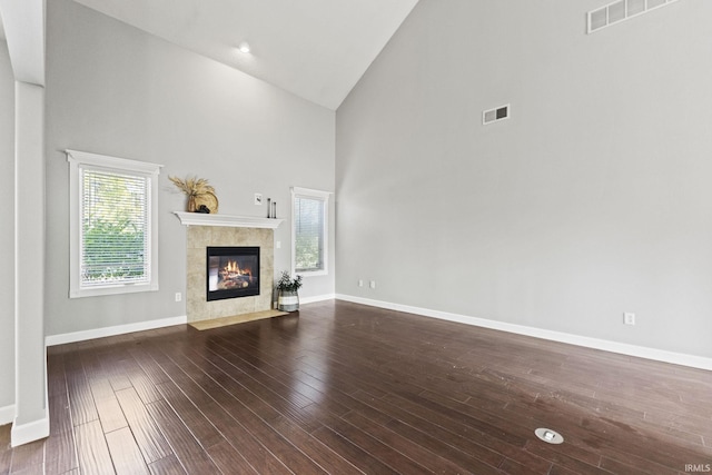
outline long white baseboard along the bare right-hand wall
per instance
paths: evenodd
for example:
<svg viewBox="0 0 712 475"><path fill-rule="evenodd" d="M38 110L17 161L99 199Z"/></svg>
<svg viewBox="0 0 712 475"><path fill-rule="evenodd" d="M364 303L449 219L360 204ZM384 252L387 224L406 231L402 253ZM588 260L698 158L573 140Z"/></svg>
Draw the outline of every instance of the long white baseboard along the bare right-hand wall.
<svg viewBox="0 0 712 475"><path fill-rule="evenodd" d="M461 324L474 325L483 328L491 328L501 331L508 331L517 335L532 336L535 338L548 339L552 342L567 343L586 348L602 349L604 352L619 353L639 358L654 359L673 365L689 366L692 368L712 370L712 358L686 355L683 353L666 352L664 349L649 348L645 346L629 345L624 343L610 342L605 339L591 338L586 336L572 335L563 331L547 330L524 325L508 324L505 321L490 320L486 318L468 317L465 315L451 314L447 311L432 310L428 308L412 307L408 305L392 304L369 298L355 297L350 295L337 294L338 300L353 301L355 304L368 305L372 307L386 308L389 310L404 311L421 315L424 317L439 318L442 320L457 321Z"/></svg>

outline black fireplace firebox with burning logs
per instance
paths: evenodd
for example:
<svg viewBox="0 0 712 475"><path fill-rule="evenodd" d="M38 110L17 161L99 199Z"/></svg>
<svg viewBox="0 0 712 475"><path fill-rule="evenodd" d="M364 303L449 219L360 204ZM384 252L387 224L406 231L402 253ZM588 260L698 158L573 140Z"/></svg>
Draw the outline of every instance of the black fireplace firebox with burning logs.
<svg viewBox="0 0 712 475"><path fill-rule="evenodd" d="M259 247L207 248L207 299L259 295Z"/></svg>

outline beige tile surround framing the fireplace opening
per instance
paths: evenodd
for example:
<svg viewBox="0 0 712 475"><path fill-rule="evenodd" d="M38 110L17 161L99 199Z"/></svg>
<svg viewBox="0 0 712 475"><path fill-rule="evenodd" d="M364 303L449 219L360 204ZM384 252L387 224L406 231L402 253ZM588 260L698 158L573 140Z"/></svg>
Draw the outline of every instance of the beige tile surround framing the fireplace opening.
<svg viewBox="0 0 712 475"><path fill-rule="evenodd" d="M188 323L271 309L274 286L273 229L189 226L187 235ZM206 298L206 248L208 246L259 246L259 295L208 301Z"/></svg>

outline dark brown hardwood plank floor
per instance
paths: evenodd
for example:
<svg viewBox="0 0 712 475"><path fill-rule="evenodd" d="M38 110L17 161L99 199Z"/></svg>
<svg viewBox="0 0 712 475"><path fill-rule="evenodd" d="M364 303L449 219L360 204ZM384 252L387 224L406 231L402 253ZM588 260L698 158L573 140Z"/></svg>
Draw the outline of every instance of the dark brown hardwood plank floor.
<svg viewBox="0 0 712 475"><path fill-rule="evenodd" d="M684 474L712 373L343 301L56 346L0 474ZM537 427L560 432L550 445Z"/></svg>

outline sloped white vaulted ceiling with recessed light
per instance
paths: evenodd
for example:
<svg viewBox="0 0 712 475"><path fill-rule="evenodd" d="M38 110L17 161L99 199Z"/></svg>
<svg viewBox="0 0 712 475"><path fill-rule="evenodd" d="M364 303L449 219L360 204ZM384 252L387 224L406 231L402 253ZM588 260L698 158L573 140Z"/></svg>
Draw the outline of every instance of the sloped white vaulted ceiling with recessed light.
<svg viewBox="0 0 712 475"><path fill-rule="evenodd" d="M75 1L335 110L418 0Z"/></svg>

